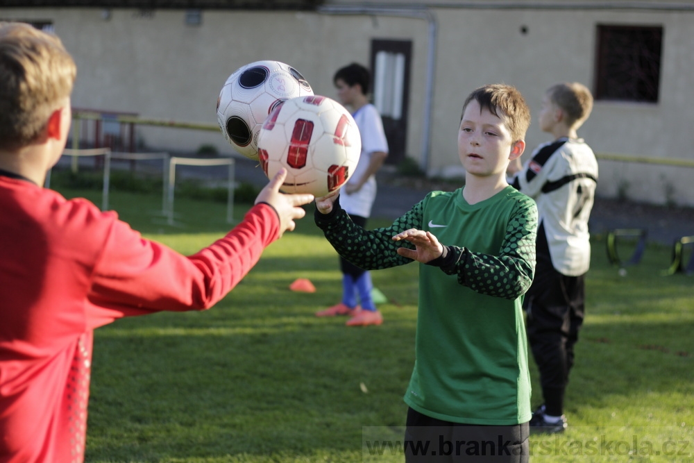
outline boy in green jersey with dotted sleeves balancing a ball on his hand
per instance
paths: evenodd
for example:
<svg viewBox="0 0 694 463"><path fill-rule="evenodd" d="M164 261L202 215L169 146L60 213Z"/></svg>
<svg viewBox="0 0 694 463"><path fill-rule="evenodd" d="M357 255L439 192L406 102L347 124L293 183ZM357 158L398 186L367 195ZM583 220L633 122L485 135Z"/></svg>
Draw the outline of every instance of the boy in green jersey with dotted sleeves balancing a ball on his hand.
<svg viewBox="0 0 694 463"><path fill-rule="evenodd" d="M358 267L420 263L416 361L405 393L406 462L528 460L530 373L521 303L534 273L537 209L506 181L528 126L530 110L518 90L485 85L463 106L464 187L431 192L375 230L350 221L339 192L316 199L316 224Z"/></svg>

